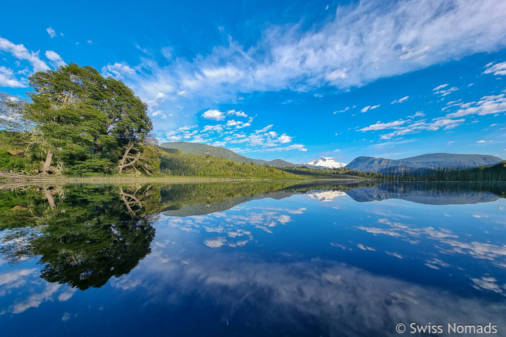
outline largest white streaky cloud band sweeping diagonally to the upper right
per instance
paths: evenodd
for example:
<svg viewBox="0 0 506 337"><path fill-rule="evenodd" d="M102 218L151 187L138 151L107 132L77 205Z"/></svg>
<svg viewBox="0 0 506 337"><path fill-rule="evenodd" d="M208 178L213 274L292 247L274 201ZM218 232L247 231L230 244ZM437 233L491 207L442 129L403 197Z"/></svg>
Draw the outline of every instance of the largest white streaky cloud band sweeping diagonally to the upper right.
<svg viewBox="0 0 506 337"><path fill-rule="evenodd" d="M189 90L218 103L239 92L310 91L315 86L346 90L498 51L506 45L505 12L506 3L496 0L448 0L445 6L440 0L388 6L352 2L309 30L302 22L268 25L247 48L230 36L226 44L194 59L176 58L160 66L143 58L135 67L139 74L128 82L143 98L153 92L148 86L159 86L167 89L161 92Z"/></svg>

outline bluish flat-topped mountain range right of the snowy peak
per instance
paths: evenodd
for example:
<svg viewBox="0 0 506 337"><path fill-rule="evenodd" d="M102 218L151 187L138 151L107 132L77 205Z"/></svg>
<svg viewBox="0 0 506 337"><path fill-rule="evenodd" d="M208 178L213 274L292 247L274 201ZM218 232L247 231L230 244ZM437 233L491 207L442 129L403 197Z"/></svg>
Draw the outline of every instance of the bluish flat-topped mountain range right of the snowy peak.
<svg viewBox="0 0 506 337"><path fill-rule="evenodd" d="M432 153L403 159L357 157L346 165L359 171L385 173L399 170L418 170L434 168L468 169L497 164L500 158L488 155L463 155L451 153Z"/></svg>

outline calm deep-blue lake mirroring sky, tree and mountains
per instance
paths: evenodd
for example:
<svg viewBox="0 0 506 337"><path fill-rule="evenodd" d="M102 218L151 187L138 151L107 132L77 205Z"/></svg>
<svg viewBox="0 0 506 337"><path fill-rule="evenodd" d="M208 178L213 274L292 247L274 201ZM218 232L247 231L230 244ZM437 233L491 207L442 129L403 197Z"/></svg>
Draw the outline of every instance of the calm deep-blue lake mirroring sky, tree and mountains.
<svg viewBox="0 0 506 337"><path fill-rule="evenodd" d="M0 336L506 335L505 184L0 188Z"/></svg>

